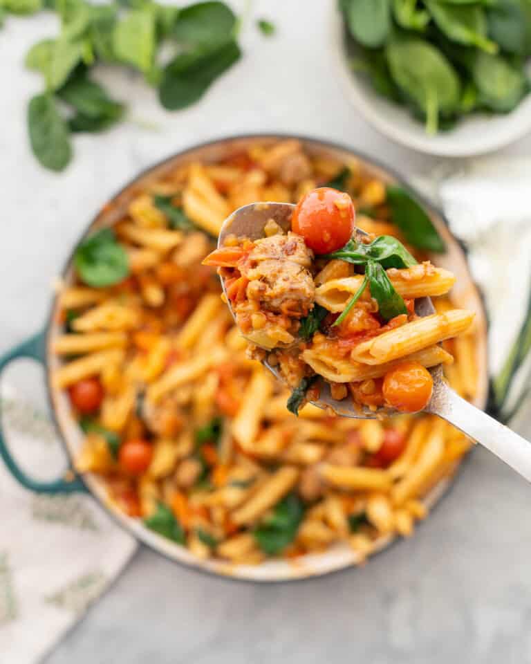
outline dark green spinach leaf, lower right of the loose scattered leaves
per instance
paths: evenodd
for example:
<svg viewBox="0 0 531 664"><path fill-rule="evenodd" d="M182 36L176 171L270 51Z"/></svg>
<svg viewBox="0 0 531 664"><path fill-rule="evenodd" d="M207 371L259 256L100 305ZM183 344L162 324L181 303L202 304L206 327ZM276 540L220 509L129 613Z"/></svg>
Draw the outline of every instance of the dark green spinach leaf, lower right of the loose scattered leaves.
<svg viewBox="0 0 531 664"><path fill-rule="evenodd" d="M181 53L162 73L159 99L165 109L184 109L201 99L209 86L240 58L236 42L228 42L206 53Z"/></svg>

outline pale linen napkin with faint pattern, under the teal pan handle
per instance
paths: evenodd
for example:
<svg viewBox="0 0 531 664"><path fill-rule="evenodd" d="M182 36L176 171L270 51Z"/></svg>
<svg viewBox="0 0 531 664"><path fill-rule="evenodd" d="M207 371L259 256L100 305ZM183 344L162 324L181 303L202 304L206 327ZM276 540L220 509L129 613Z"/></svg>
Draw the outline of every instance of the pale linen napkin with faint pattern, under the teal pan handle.
<svg viewBox="0 0 531 664"><path fill-rule="evenodd" d="M33 477L55 479L64 450L24 383L2 380L10 449ZM0 662L35 664L104 592L137 544L89 495L37 495L21 488L1 461L0 496Z"/></svg>

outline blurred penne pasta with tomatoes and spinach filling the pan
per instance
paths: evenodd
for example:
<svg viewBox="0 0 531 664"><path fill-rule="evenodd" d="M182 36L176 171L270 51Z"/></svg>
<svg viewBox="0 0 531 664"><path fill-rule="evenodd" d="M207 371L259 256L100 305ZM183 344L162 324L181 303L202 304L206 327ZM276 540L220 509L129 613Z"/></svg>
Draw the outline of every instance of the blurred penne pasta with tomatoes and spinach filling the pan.
<svg viewBox="0 0 531 664"><path fill-rule="evenodd" d="M307 404L295 418L288 391L248 358L214 268L201 265L239 205L297 201L346 166L345 187L373 208L359 223L399 234L381 183L356 163L310 156L296 140L254 142L219 163L178 167L138 192L112 230L82 243L75 281L59 293L64 332L53 350L62 362L53 381L84 431L77 470L99 474L115 506L197 557L258 564L346 542L362 559L382 535L411 535L427 514L423 496L469 448L431 416L355 421ZM451 285L446 270L420 278L424 268L408 269L407 278L402 270L390 275L403 297ZM334 312L354 282L343 261L330 261L315 279L317 297L328 297ZM435 303L441 315L454 309L445 295ZM443 362L472 398L473 345L469 330L411 356L425 366ZM317 350L306 350L308 365L326 362ZM349 362L348 381L379 380L395 362L379 346L362 350L362 358L383 360Z"/></svg>

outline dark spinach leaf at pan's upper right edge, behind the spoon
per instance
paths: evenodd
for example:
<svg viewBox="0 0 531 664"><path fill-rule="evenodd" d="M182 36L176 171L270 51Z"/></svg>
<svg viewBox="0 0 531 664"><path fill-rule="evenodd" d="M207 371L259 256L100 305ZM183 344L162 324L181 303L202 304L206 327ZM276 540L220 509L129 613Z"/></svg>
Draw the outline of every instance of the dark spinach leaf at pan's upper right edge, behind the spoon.
<svg viewBox="0 0 531 664"><path fill-rule="evenodd" d="M422 206L402 187L387 185L386 200L391 208L393 223L413 247L444 253L446 246L433 222Z"/></svg>

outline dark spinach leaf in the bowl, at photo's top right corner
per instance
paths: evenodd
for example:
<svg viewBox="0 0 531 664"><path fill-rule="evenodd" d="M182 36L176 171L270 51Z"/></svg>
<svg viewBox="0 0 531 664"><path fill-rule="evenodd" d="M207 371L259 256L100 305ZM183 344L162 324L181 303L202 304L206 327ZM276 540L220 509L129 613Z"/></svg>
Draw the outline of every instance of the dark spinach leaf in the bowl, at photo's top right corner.
<svg viewBox="0 0 531 664"><path fill-rule="evenodd" d="M489 35L507 53L531 55L531 3L496 0L487 6Z"/></svg>

